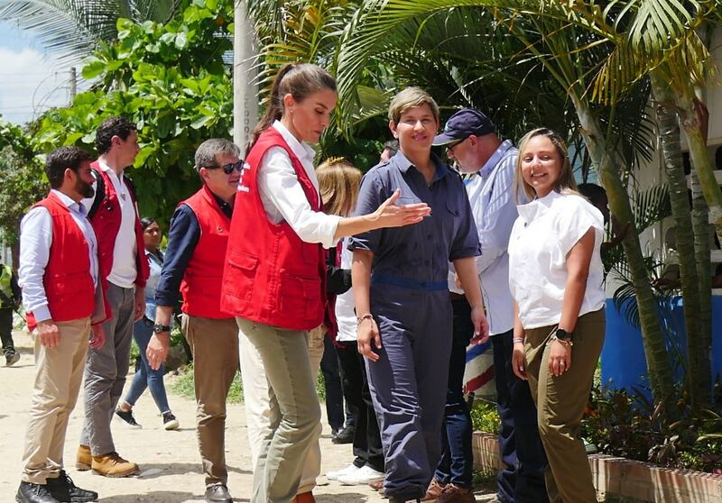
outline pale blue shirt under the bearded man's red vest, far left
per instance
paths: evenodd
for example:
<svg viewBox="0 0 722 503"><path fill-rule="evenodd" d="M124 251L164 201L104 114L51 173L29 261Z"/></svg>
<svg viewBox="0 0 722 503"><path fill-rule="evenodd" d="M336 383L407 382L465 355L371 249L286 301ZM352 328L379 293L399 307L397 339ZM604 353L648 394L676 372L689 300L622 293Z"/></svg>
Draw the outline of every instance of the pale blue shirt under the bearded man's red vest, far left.
<svg viewBox="0 0 722 503"><path fill-rule="evenodd" d="M88 259L90 260L90 275L93 284L97 286L97 242L93 226L88 222L85 207L76 203L60 190L52 189L60 197L65 206L68 206L70 215L88 242ZM45 267L51 257L52 244L52 217L50 212L42 206L32 208L23 216L20 224L20 265L18 276L20 286L23 288L23 305L25 310L32 312L39 322L51 319L48 308L48 298L42 277Z"/></svg>

